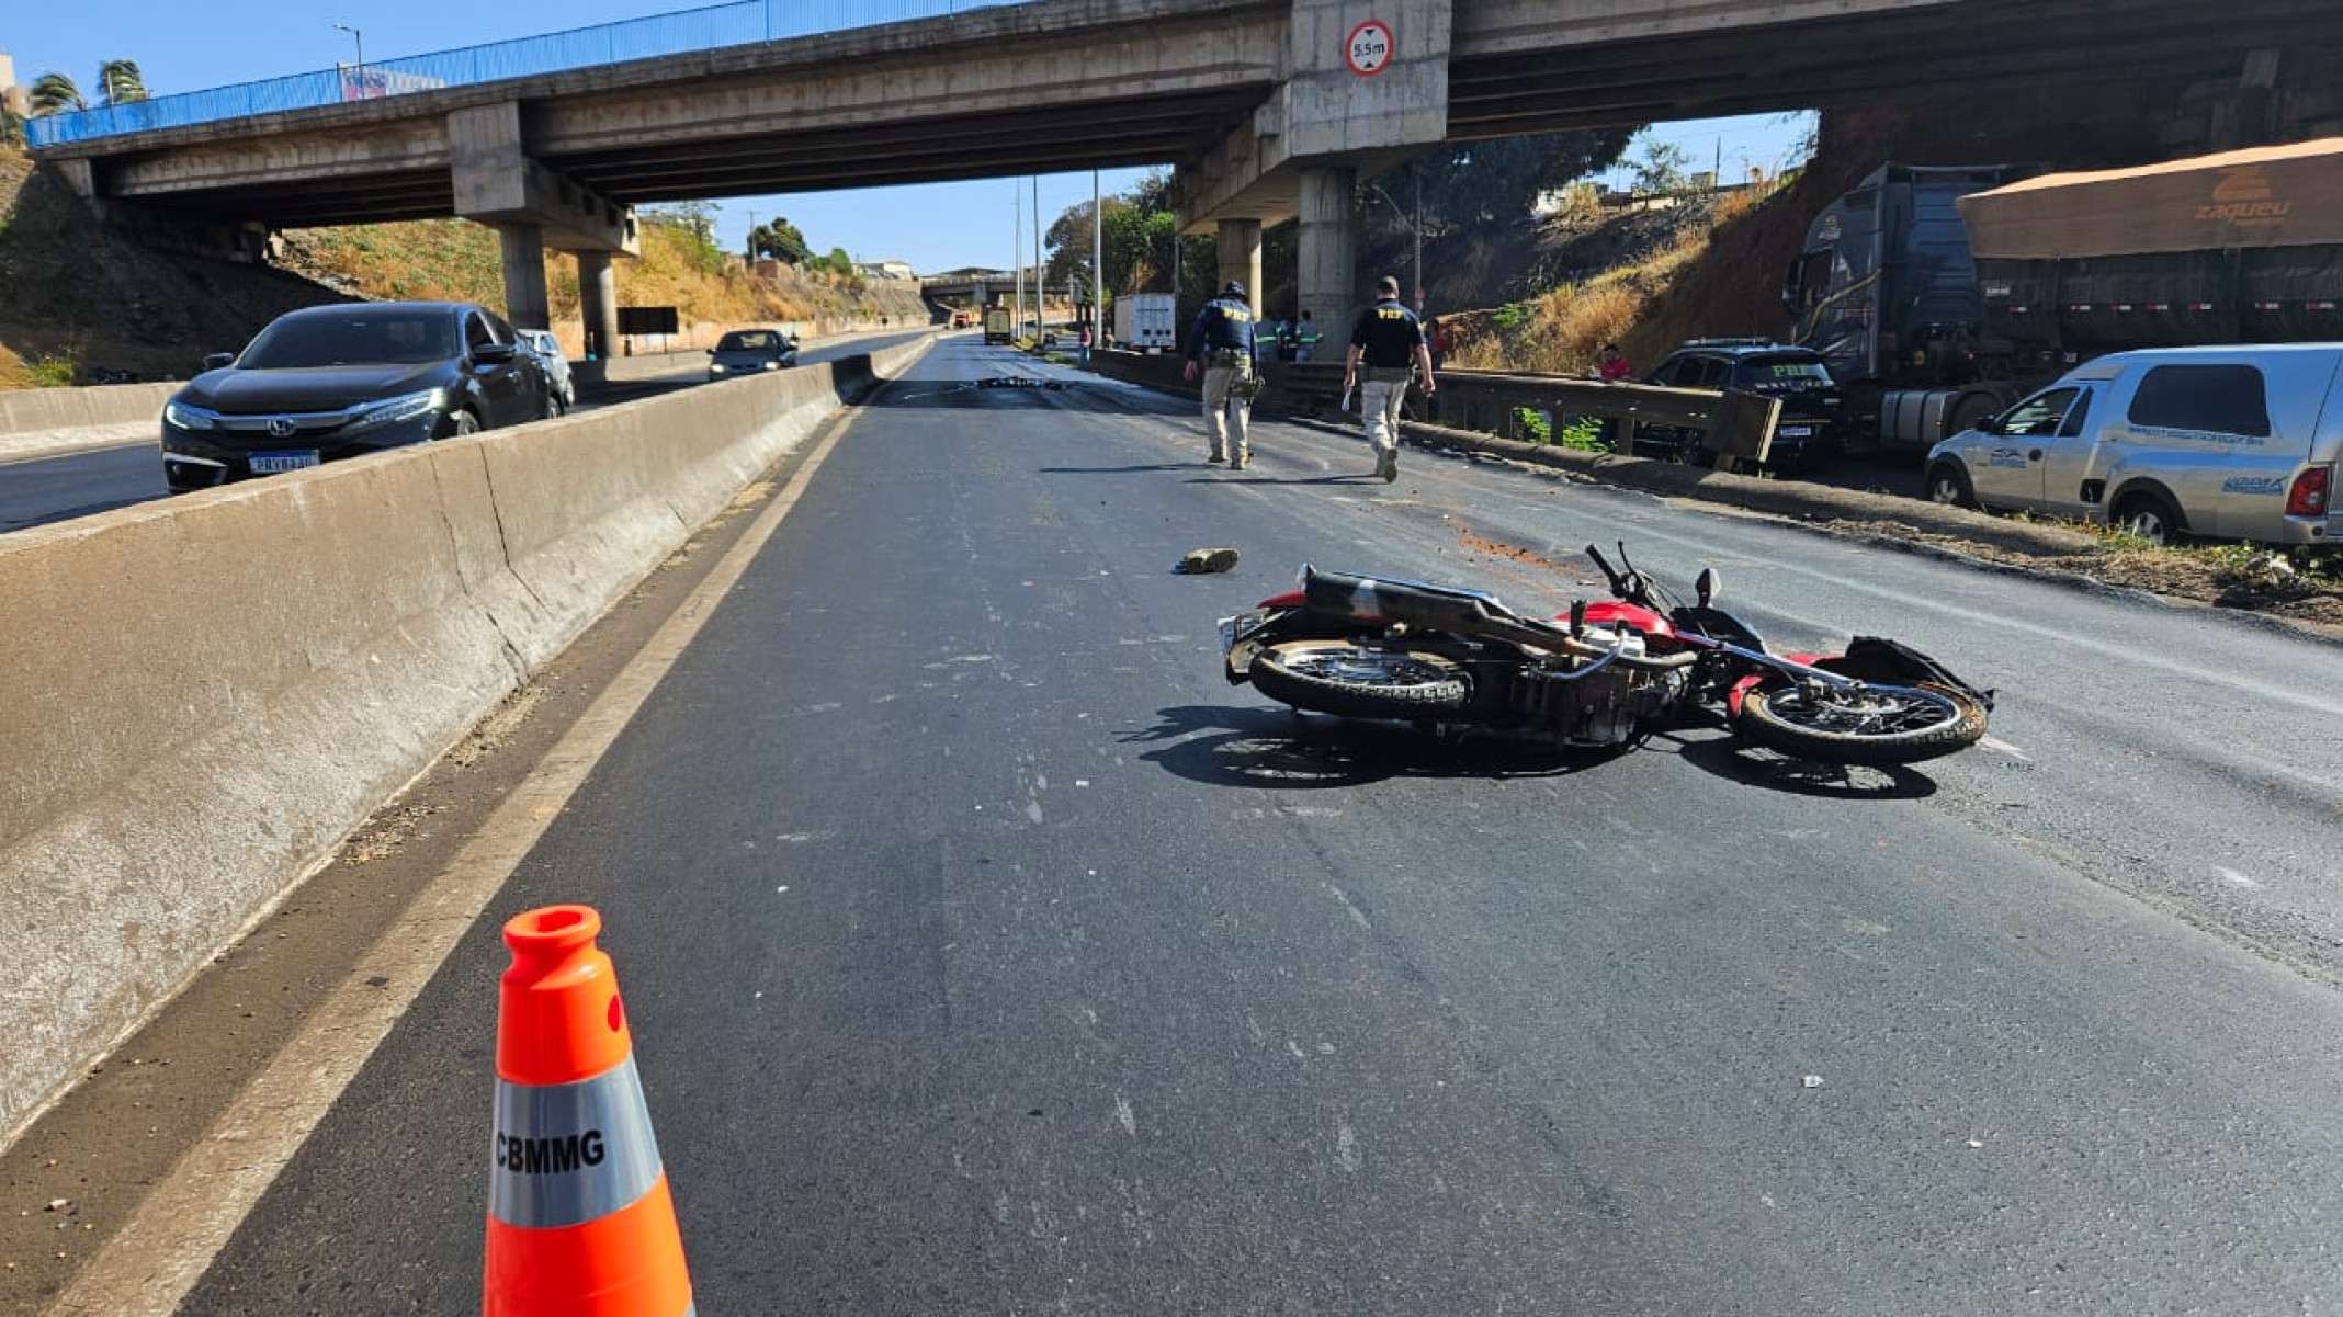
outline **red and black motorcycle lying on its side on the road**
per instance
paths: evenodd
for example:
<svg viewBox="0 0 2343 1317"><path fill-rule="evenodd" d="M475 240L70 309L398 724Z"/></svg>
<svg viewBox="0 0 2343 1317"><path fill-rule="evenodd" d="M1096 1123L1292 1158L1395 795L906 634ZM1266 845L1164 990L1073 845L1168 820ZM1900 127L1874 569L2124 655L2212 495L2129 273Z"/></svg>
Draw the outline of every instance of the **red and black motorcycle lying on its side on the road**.
<svg viewBox="0 0 2343 1317"><path fill-rule="evenodd" d="M1481 591L1303 567L1298 591L1221 621L1230 682L1298 710L1626 748L1722 703L1750 743L1828 764L1917 764L1966 750L1994 708L1935 658L1858 635L1844 654L1774 654L1715 607L1701 569L1682 605L1619 546L1586 546L1610 600L1551 621Z"/></svg>

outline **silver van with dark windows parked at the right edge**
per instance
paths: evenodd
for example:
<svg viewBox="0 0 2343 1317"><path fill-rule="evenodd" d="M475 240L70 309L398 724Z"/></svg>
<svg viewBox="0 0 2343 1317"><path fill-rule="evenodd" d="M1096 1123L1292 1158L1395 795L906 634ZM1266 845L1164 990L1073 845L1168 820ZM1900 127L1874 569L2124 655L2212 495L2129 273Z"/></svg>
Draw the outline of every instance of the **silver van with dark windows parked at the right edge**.
<svg viewBox="0 0 2343 1317"><path fill-rule="evenodd" d="M2177 534L2343 541L2343 342L2163 347L2085 361L1928 450L1940 504Z"/></svg>

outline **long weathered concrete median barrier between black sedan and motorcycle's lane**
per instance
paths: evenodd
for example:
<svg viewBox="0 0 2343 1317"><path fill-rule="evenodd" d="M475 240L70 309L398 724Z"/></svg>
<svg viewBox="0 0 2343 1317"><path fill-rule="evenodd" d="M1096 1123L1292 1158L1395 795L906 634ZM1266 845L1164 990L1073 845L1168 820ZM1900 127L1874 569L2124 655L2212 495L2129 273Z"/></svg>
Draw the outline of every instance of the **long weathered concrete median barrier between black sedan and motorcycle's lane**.
<svg viewBox="0 0 2343 1317"><path fill-rule="evenodd" d="M925 347L0 539L0 1130Z"/></svg>

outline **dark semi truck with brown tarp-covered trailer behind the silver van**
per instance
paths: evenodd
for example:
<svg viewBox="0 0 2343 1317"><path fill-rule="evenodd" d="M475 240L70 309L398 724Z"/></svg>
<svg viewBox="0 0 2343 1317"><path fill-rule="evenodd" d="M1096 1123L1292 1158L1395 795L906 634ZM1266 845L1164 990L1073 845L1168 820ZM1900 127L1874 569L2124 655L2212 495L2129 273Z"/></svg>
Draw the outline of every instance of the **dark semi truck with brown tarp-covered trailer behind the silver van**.
<svg viewBox="0 0 2343 1317"><path fill-rule="evenodd" d="M2343 340L2343 138L2085 173L1888 164L1783 302L1842 434L1919 448L2109 352Z"/></svg>

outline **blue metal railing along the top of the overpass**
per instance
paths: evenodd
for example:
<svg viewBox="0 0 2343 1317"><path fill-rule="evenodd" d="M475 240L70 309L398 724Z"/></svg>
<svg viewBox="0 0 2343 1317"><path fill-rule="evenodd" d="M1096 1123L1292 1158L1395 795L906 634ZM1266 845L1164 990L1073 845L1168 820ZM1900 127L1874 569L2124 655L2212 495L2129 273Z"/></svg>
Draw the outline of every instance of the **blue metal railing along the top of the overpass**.
<svg viewBox="0 0 2343 1317"><path fill-rule="evenodd" d="M178 91L122 105L98 105L26 122L26 138L59 145L152 129L241 120L344 101L377 101L443 87L476 87L539 73L569 73L630 59L743 47L848 28L874 28L904 19L937 19L1019 0L733 0L705 9L651 14L541 37L518 37L433 54L410 54L366 66L337 66L291 77L262 77L211 91Z"/></svg>

